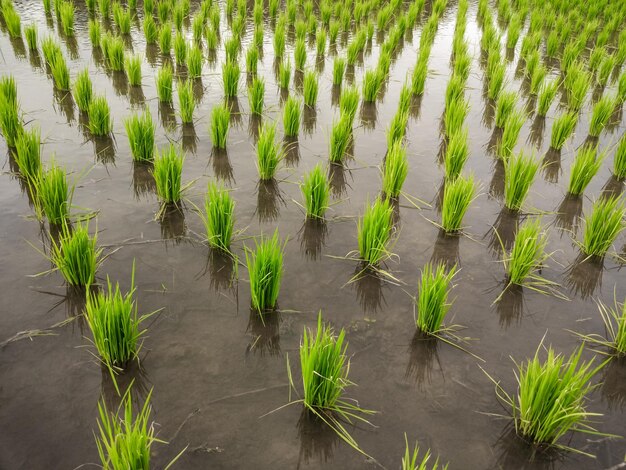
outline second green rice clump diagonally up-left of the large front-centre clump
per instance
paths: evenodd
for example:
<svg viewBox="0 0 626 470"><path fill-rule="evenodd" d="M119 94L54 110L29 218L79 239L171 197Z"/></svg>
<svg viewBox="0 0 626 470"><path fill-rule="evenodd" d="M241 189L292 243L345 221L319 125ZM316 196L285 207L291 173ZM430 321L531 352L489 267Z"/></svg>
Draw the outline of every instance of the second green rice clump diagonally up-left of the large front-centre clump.
<svg viewBox="0 0 626 470"><path fill-rule="evenodd" d="M210 181L204 198L202 217L209 245L228 251L235 227L235 201L222 186Z"/></svg>

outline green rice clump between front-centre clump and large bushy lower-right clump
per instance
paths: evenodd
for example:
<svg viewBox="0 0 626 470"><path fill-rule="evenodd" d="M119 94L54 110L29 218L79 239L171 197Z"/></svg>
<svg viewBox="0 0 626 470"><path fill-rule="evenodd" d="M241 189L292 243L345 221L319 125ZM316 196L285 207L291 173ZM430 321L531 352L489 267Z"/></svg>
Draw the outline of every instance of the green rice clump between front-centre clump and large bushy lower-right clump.
<svg viewBox="0 0 626 470"><path fill-rule="evenodd" d="M415 325L422 333L436 335L445 328L443 321L452 306L448 297L456 273L456 266L448 271L444 263L427 263L422 268L415 316Z"/></svg>

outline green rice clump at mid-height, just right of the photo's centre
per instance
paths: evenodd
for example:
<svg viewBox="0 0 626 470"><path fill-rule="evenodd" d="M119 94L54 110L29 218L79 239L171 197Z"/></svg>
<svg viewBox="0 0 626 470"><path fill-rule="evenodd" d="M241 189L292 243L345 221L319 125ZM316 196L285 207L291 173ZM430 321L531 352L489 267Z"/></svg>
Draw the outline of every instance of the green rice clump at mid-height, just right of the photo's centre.
<svg viewBox="0 0 626 470"><path fill-rule="evenodd" d="M359 254L367 264L376 266L389 256L387 243L391 238L393 208L388 199L369 202L357 225Z"/></svg>

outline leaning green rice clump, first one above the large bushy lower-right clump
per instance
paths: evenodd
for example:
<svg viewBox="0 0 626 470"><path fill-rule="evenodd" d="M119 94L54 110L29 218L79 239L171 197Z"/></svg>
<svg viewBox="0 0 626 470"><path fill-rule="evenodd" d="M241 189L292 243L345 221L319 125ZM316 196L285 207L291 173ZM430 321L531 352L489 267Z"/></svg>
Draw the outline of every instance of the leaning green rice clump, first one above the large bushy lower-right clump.
<svg viewBox="0 0 626 470"><path fill-rule="evenodd" d="M523 285L529 276L533 276L547 257L546 244L547 238L539 219L528 220L519 227L511 252L504 260L510 284Z"/></svg>

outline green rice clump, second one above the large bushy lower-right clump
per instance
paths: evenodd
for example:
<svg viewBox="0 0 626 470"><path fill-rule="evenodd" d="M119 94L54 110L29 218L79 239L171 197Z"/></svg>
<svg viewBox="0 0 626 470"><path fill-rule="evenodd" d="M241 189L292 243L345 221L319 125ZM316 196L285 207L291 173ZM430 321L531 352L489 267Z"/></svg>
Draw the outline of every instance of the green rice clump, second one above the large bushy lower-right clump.
<svg viewBox="0 0 626 470"><path fill-rule="evenodd" d="M533 184L539 162L534 156L520 152L504 161L504 204L512 211L522 208Z"/></svg>

